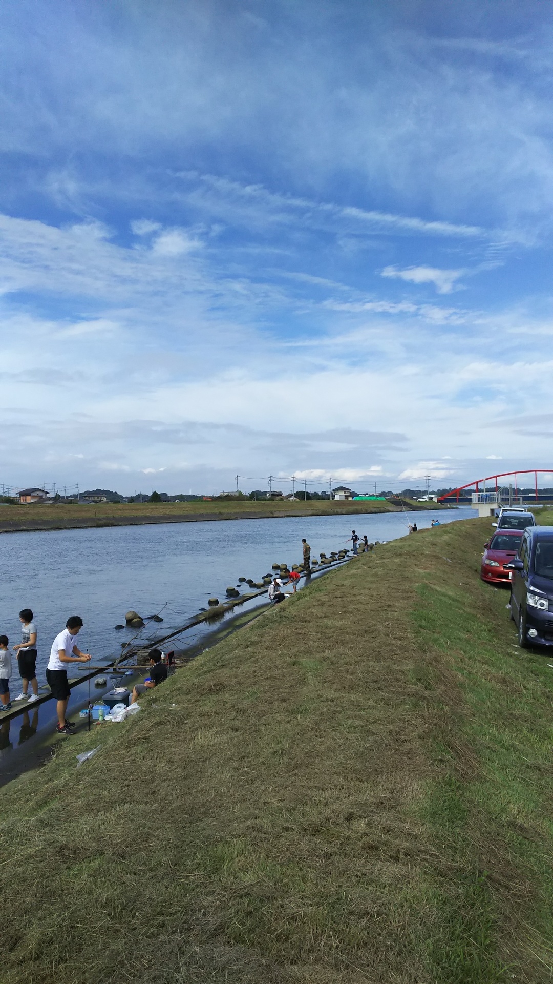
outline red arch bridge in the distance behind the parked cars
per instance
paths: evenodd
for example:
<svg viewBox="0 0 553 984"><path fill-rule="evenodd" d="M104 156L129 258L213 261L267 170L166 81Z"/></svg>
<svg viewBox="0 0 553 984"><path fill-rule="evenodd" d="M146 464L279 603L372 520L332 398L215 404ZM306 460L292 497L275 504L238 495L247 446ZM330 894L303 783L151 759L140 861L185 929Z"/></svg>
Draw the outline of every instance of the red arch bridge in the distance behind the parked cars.
<svg viewBox="0 0 553 984"><path fill-rule="evenodd" d="M521 475L530 475L525 483L521 483ZM549 475L553 480L553 468L522 468L521 471L503 471L499 475L488 475L467 482L459 488L438 496L438 502L470 503L478 510L478 516L493 516L501 506L523 506L524 503L551 502L553 494L549 491L540 493L538 475ZM503 481L500 481L503 479ZM552 481L553 484L553 481Z"/></svg>

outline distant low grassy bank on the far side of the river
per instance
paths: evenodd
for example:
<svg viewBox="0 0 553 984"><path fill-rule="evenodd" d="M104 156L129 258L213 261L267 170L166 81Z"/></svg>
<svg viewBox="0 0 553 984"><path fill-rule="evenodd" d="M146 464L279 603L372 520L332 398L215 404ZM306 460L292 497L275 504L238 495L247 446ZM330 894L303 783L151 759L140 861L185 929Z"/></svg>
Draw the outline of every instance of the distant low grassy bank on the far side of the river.
<svg viewBox="0 0 553 984"><path fill-rule="evenodd" d="M407 510L439 509L436 503L402 500ZM80 526L113 526L133 523L194 523L206 520L269 519L288 516L342 516L349 513L397 513L399 504L389 502L337 502L311 500L216 500L179 503L99 503L95 506L52 503L43 506L1 505L0 532L17 529L64 529Z"/></svg>

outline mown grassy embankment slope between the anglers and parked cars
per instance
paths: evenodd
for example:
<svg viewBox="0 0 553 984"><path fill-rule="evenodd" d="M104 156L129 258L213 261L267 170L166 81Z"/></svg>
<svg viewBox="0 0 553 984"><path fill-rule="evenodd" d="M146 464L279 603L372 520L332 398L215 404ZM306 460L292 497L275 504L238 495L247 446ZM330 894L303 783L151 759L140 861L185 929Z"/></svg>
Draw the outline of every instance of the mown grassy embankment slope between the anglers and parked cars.
<svg viewBox="0 0 553 984"><path fill-rule="evenodd" d="M7 787L3 984L550 981L553 671L489 532L358 557Z"/></svg>

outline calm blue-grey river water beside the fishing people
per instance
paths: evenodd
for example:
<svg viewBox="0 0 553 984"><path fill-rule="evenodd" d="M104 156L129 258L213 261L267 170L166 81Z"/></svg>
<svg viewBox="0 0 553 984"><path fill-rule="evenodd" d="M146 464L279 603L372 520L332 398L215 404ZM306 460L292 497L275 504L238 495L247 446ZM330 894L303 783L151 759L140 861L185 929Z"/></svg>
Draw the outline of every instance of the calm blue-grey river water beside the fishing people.
<svg viewBox="0 0 553 984"><path fill-rule="evenodd" d="M120 654L121 642L135 635L114 628L124 624L129 608L143 617L162 609L163 624L156 629L165 635L208 607L209 597L222 601L227 586L250 590L239 585L239 577L259 581L275 562L301 563L303 536L311 544L312 558L318 558L321 552L347 546L352 528L366 533L369 541L388 541L406 535L409 522L425 528L433 518L451 523L474 515L470 508L460 508L6 533L0 536L0 633L9 637L10 647L21 642L19 611L31 608L38 631L36 673L43 684L50 646L69 615L81 615L85 622L78 646L92 652L95 665L103 664ZM149 637L153 630L149 627ZM196 638L202 632L205 629L195 630ZM194 637L189 635L188 641ZM19 683L14 654L12 699ZM84 691L79 687L72 692L73 716L87 699ZM23 728L21 717L0 723L0 782L3 774L17 774L16 761L8 762L8 753L22 739L37 740L54 719L55 704L48 701L34 709L29 723L25 718Z"/></svg>

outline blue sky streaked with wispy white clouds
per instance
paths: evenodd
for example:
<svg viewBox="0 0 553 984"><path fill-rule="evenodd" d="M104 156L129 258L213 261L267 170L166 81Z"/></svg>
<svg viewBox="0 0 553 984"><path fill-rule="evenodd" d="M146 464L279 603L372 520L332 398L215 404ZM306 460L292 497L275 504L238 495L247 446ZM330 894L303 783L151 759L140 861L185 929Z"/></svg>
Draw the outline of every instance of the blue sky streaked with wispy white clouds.
<svg viewBox="0 0 553 984"><path fill-rule="evenodd" d="M4 4L0 481L553 467L552 34L532 0Z"/></svg>

